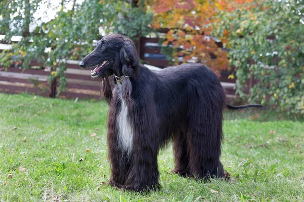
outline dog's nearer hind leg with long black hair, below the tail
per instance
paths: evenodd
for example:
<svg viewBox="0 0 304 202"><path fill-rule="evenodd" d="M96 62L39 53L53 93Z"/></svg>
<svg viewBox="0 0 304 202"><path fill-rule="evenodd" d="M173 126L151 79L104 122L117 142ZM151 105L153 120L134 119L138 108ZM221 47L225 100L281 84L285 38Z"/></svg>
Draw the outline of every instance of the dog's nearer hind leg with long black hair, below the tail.
<svg viewBox="0 0 304 202"><path fill-rule="evenodd" d="M213 89L210 89L213 90ZM199 178L222 177L220 163L223 97L204 89L194 94L187 117L187 149L191 173Z"/></svg>

